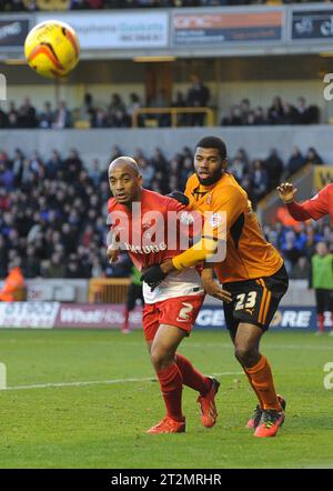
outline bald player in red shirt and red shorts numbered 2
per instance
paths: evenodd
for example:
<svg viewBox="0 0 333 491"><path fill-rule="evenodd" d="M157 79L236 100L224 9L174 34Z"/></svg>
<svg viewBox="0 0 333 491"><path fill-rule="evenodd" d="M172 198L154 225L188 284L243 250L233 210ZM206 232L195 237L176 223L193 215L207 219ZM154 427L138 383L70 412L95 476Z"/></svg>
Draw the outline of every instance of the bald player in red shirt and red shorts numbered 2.
<svg viewBox="0 0 333 491"><path fill-rule="evenodd" d="M113 198L109 200L112 243L108 255L117 259L119 244L127 249L133 263L144 270L179 254L179 239L170 244L175 224L182 216L189 218L185 207L157 192L142 189L142 177L137 162L120 157L109 167L109 182ZM170 222L170 213L176 217ZM173 224L172 224L173 223ZM200 275L194 268L169 274L155 288L143 282L143 332L151 361L160 382L167 415L148 433L179 433L185 431L182 413L182 385L199 392L201 420L204 427L216 421L215 393L218 380L201 374L192 363L176 352L183 338L190 334L204 299Z"/></svg>

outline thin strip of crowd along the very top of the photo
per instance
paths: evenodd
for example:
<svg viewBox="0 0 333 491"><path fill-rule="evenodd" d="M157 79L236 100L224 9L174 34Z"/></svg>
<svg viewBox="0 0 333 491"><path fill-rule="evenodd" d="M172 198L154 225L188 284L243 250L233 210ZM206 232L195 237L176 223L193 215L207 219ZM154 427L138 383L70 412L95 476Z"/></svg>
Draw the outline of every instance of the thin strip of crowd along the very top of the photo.
<svg viewBox="0 0 333 491"><path fill-rule="evenodd" d="M57 3L59 10L90 10L157 7L236 7L244 4L304 3L304 1L306 0L0 0L0 11L18 12L46 10L47 8L54 9L53 3Z"/></svg>

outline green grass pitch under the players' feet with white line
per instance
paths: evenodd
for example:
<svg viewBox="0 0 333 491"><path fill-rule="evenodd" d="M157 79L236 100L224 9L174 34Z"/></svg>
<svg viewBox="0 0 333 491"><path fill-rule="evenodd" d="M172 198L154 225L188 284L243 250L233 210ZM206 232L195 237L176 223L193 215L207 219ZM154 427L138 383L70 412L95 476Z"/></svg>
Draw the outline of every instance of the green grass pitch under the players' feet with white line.
<svg viewBox="0 0 333 491"><path fill-rule="evenodd" d="M333 338L264 335L287 400L273 439L245 429L256 401L226 332L194 331L180 351L219 373L218 423L201 427L196 393L185 388L186 433L149 435L164 410L142 332L1 330L10 390L0 391L0 468L333 468L333 389L323 384ZM38 387L47 383L59 385Z"/></svg>

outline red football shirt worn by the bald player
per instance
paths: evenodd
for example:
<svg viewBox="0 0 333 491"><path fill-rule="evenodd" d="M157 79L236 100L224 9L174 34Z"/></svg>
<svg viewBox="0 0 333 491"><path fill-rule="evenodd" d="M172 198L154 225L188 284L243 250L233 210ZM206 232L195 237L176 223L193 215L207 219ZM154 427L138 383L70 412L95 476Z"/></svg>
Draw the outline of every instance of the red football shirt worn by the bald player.
<svg viewBox="0 0 333 491"><path fill-rule="evenodd" d="M120 242L140 271L191 247L185 244L184 233L188 231L186 220L193 220L193 216L183 204L147 189L142 190L141 201L133 204L140 209L130 210L114 198L108 202L112 229L119 231ZM183 243L180 241L181 230Z"/></svg>

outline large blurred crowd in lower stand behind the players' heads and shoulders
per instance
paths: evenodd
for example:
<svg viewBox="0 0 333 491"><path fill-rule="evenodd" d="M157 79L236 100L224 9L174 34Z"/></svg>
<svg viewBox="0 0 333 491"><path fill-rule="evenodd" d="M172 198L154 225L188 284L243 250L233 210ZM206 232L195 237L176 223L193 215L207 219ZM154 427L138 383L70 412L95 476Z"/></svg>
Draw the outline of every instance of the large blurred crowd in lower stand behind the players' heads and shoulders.
<svg viewBox="0 0 333 491"><path fill-rule="evenodd" d="M118 147L110 159L122 154ZM160 149L148 158L141 149L133 156L140 164L143 184L165 194L183 190L193 169L193 154L183 148L172 159ZM320 163L316 151L305 156L294 149L287 162L276 150L265 160L250 160L240 149L231 159L230 172L258 202L270 190L306 162ZM107 202L110 198L107 179L108 162L98 160L85 167L77 150L61 156L53 150L43 158L34 152L24 154L17 149L8 156L0 151L0 278L10 264L19 261L26 278L90 278L107 274L122 277L129 273L127 254L110 265L105 259L108 228ZM300 258L309 253L310 236L313 240L327 229L315 226L282 229L279 223L265 232L278 244L290 264L295 268ZM331 243L333 243L331 237Z"/></svg>

